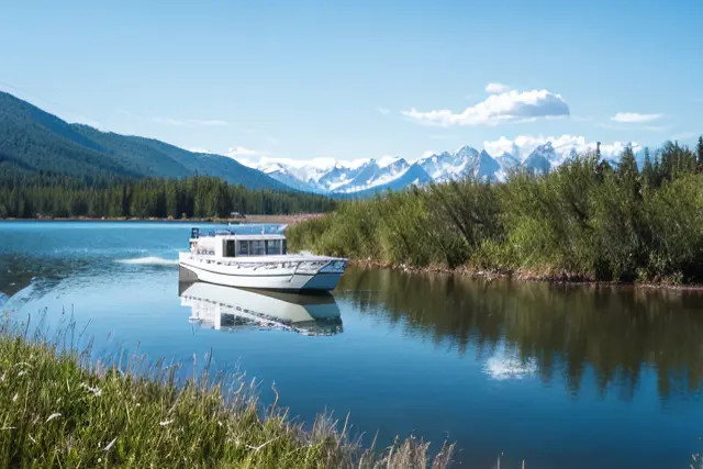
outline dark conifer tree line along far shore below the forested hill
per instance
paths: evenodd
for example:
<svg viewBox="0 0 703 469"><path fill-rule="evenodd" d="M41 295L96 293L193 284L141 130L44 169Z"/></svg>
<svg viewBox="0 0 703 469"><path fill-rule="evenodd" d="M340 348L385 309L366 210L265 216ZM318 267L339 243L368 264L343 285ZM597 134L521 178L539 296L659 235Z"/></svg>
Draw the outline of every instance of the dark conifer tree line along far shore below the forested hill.
<svg viewBox="0 0 703 469"><path fill-rule="evenodd" d="M219 178L76 178L54 172L0 176L0 217L227 217L320 213L335 208L323 196L249 190Z"/></svg>

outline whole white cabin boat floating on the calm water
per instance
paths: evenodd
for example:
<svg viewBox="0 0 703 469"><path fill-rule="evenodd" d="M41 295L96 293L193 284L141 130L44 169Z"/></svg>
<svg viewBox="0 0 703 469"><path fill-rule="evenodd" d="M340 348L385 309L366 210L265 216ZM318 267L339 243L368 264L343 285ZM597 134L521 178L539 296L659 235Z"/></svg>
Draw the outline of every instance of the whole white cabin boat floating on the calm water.
<svg viewBox="0 0 703 469"><path fill-rule="evenodd" d="M226 287L289 291L331 291L347 259L287 254L286 225L241 224L201 233L192 228L180 267L198 280Z"/></svg>

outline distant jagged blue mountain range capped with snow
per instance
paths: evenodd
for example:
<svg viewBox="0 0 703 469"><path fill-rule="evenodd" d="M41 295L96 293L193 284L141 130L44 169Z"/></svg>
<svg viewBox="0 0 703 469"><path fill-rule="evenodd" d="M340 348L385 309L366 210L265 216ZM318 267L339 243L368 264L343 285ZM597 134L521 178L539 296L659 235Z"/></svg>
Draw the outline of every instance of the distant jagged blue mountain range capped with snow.
<svg viewBox="0 0 703 469"><path fill-rule="evenodd" d="M637 146L634 148L638 149ZM514 153L492 156L486 149L479 152L470 146L462 146L455 152L432 154L414 163L401 157L384 157L380 160L370 158L350 163L317 160L286 164L266 160L254 167L305 192L370 196L388 189L447 182L467 176L502 182L511 170L520 167L544 174L573 158L578 152L574 147L555 148L551 142L547 142L525 155L521 155L518 148L514 148Z"/></svg>

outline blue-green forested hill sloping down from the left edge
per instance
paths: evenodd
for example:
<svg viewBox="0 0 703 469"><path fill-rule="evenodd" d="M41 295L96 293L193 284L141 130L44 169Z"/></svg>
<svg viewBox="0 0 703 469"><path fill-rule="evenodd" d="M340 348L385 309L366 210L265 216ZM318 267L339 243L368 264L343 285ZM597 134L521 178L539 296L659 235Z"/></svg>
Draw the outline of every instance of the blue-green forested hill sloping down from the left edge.
<svg viewBox="0 0 703 469"><path fill-rule="evenodd" d="M216 176L249 189L289 188L221 155L197 154L150 138L69 124L0 92L0 172L127 178Z"/></svg>

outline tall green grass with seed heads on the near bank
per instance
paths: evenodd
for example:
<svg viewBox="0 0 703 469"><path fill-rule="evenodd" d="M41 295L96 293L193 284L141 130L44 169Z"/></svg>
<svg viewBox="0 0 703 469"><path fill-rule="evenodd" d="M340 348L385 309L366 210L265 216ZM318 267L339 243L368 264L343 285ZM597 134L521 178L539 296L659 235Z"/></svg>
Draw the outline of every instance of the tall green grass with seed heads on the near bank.
<svg viewBox="0 0 703 469"><path fill-rule="evenodd" d="M320 415L311 428L263 409L243 376L177 383L176 367L104 365L89 348L0 325L0 467L445 468L428 444L364 449ZM134 371L141 369L140 372Z"/></svg>

